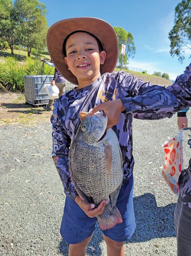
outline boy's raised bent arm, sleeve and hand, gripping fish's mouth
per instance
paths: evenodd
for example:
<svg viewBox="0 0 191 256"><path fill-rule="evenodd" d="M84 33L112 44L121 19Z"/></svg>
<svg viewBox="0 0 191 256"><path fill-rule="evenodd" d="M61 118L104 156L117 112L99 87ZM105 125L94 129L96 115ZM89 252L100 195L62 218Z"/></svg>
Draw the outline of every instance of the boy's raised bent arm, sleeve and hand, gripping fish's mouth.
<svg viewBox="0 0 191 256"><path fill-rule="evenodd" d="M170 117L178 111L178 101L174 94L162 86L143 82L134 76L122 73L120 81L122 97L95 106L90 114L103 110L108 117L108 127L117 124L120 112L133 112L139 119L159 119ZM144 117L143 117L144 116Z"/></svg>

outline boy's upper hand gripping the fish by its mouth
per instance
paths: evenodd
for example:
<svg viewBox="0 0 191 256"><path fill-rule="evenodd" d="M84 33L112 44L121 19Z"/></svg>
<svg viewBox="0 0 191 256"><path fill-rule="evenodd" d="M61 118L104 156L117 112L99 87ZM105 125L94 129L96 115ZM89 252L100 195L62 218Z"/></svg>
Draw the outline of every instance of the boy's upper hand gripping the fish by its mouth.
<svg viewBox="0 0 191 256"><path fill-rule="evenodd" d="M120 113L125 110L123 103L120 99L115 101L104 102L100 105L95 106L92 111L89 113L90 116L95 114L97 111L103 110L107 115L107 128L109 129L112 126L115 126L119 122Z"/></svg>

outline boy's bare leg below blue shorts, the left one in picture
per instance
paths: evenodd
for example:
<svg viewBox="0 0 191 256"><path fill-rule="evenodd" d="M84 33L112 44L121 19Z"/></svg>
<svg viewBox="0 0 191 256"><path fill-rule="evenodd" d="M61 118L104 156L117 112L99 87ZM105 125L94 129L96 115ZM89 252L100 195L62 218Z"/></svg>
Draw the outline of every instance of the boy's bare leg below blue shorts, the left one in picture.
<svg viewBox="0 0 191 256"><path fill-rule="evenodd" d="M93 235L93 234L92 234ZM78 244L70 244L68 256L86 256L87 244L92 238L92 235Z"/></svg>

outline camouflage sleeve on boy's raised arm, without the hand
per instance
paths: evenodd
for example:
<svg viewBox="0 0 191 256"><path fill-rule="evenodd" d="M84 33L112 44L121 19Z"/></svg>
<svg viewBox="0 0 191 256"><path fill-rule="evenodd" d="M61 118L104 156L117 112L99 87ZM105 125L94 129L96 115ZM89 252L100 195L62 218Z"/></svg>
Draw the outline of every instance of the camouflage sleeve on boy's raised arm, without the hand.
<svg viewBox="0 0 191 256"><path fill-rule="evenodd" d="M123 95L121 101L126 112L136 113L139 119L159 119L170 117L178 111L178 102L174 94L163 86L143 82L129 74L121 74L120 84Z"/></svg>

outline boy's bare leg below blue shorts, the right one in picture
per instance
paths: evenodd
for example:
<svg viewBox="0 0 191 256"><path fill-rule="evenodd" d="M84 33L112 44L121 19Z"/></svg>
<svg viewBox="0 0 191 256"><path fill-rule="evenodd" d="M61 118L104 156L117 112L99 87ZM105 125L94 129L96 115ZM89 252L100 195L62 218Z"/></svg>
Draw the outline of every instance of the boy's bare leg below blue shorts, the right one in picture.
<svg viewBox="0 0 191 256"><path fill-rule="evenodd" d="M107 256L124 256L125 244L124 242L114 241L107 236L104 236L105 243L107 244Z"/></svg>

